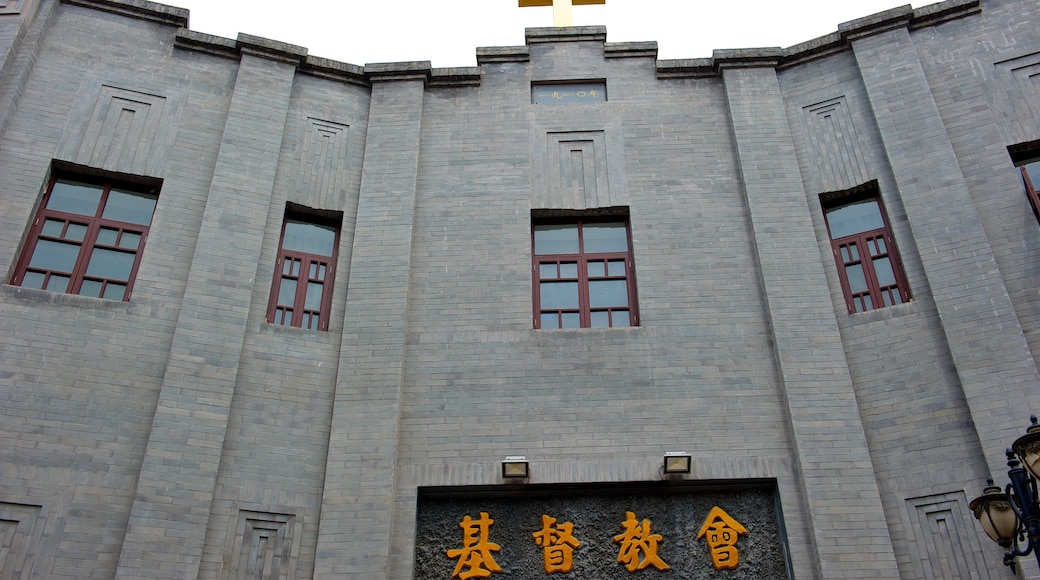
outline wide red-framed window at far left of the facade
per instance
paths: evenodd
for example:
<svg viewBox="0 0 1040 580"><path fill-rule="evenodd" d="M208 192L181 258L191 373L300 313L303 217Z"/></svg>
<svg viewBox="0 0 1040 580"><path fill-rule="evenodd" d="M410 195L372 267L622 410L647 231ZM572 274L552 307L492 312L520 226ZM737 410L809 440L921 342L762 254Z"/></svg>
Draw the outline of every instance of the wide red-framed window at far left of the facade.
<svg viewBox="0 0 1040 580"><path fill-rule="evenodd" d="M158 187L51 179L11 284L129 300L158 199Z"/></svg>

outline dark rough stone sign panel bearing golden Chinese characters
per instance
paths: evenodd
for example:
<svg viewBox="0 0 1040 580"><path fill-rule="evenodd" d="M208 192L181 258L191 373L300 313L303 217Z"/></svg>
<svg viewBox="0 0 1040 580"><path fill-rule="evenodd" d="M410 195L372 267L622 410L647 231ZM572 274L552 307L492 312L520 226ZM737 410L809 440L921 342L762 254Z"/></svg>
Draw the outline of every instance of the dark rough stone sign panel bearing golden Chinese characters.
<svg viewBox="0 0 1040 580"><path fill-rule="evenodd" d="M716 508L747 532L713 537L735 568L717 569L708 546L726 527ZM789 580L780 515L773 480L421 489L415 579Z"/></svg>

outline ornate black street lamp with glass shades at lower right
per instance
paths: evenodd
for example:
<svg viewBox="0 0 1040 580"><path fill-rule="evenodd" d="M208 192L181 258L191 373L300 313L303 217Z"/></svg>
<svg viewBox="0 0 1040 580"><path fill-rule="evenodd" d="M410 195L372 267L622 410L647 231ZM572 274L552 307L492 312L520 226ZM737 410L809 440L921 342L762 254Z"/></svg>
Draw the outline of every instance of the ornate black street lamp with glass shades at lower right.
<svg viewBox="0 0 1040 580"><path fill-rule="evenodd" d="M1015 573L1015 558L1035 553L1040 564L1040 498L1037 480L1040 479L1040 425L1036 416L1025 434L1016 439L1008 449L1008 478L1011 483L1004 490L989 479L983 495L971 500L968 506L974 513L986 535L1004 548L1004 564ZM1024 467L1023 467L1024 464Z"/></svg>

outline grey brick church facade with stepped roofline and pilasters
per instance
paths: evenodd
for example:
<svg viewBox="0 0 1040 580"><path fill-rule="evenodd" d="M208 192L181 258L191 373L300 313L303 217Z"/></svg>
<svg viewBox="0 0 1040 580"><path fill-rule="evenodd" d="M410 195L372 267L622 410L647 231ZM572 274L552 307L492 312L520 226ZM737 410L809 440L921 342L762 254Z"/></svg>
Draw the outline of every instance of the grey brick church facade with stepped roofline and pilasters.
<svg viewBox="0 0 1040 580"><path fill-rule="evenodd" d="M606 41L360 67L0 0L0 578L422 579L426 498L752 483L791 578L1008 574L967 503L1040 413L1040 3ZM96 215L58 207L76 184ZM873 261L837 233L863 208ZM278 323L290 222L336 232L291 282L312 329ZM573 223L571 276L535 229ZM599 308L584 244L619 223Z"/></svg>

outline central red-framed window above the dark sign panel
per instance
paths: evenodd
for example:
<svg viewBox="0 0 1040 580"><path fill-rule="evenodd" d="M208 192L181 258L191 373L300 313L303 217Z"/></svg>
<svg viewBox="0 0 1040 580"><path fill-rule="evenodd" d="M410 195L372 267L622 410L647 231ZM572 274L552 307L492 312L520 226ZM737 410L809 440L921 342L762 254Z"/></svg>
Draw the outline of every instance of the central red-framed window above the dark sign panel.
<svg viewBox="0 0 1040 580"><path fill-rule="evenodd" d="M536 328L636 326L627 216L535 219Z"/></svg>

